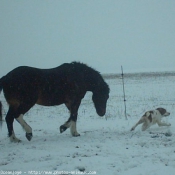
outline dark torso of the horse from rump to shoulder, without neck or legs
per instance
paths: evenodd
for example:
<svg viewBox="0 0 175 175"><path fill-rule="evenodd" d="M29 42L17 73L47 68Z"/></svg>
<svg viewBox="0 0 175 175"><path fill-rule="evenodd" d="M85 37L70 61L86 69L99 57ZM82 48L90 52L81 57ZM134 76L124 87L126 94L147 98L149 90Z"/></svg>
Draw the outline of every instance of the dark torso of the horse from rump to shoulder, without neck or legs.
<svg viewBox="0 0 175 175"><path fill-rule="evenodd" d="M75 89L76 78L74 68L68 63L52 69L20 66L5 76L3 91L9 104L59 105Z"/></svg>

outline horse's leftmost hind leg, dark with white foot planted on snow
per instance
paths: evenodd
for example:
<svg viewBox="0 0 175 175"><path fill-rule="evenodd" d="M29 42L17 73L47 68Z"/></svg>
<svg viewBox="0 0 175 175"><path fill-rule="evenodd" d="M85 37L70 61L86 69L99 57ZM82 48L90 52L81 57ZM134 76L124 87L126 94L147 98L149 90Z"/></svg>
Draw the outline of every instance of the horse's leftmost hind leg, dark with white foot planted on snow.
<svg viewBox="0 0 175 175"><path fill-rule="evenodd" d="M10 107L5 118L7 123L8 135L11 142L20 142L20 140L16 138L13 130L14 116L15 116L15 111Z"/></svg>

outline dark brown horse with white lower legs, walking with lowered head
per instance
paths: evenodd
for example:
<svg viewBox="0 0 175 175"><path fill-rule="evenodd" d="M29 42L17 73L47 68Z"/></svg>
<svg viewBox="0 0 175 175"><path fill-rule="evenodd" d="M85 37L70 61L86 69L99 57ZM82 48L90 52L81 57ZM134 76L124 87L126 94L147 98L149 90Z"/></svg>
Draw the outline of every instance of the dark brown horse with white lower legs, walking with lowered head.
<svg viewBox="0 0 175 175"><path fill-rule="evenodd" d="M13 129L16 119L30 141L32 128L23 119L24 114L35 104L55 106L65 104L70 111L69 119L60 126L60 133L70 128L72 136L80 136L76 129L78 108L87 91L92 92L92 101L99 116L106 113L109 86L95 69L80 62L64 63L51 69L20 66L0 79L0 92L9 105L5 118L11 142L20 142ZM0 105L2 108L2 105ZM2 112L2 109L0 110ZM2 122L2 114L1 122Z"/></svg>

